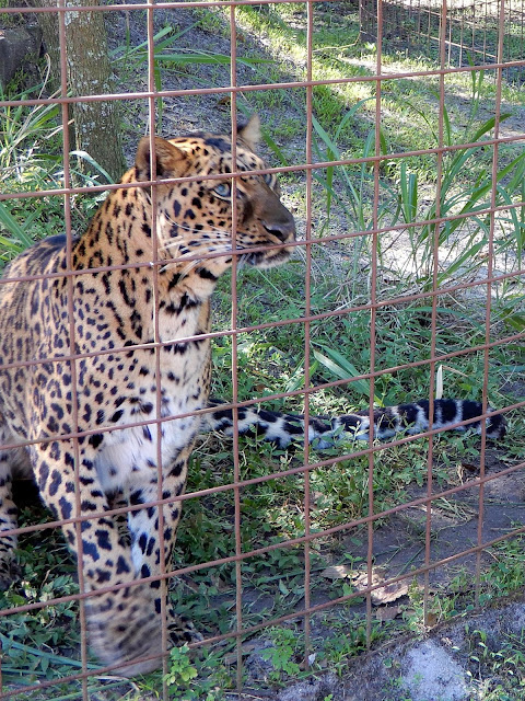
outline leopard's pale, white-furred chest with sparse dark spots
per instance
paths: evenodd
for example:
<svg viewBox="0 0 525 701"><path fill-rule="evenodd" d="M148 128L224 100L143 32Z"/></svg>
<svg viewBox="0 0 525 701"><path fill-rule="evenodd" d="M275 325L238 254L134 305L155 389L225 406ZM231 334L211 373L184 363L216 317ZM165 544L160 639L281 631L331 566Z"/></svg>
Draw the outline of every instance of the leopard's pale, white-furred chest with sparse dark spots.
<svg viewBox="0 0 525 701"><path fill-rule="evenodd" d="M207 405L209 394L210 343L198 335L203 331L198 323L163 325L160 347L113 360L118 393L104 415L114 427L104 432L94 461L105 492L156 480L159 463L166 472L192 445L200 426L192 413Z"/></svg>

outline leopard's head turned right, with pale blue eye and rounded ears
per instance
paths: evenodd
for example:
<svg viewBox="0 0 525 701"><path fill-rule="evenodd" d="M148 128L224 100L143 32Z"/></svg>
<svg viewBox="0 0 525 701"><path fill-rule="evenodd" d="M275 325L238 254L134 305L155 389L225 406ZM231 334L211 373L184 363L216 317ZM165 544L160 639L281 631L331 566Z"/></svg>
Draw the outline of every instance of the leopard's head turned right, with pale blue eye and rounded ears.
<svg viewBox="0 0 525 701"><path fill-rule="evenodd" d="M295 240L295 225L279 198L277 177L247 172L265 169L254 153L258 139L259 120L252 117L237 131L234 163L229 136L197 133L170 140L155 138L156 179L195 177L156 186L160 256L171 268L177 264L182 269L191 268L199 261L200 268L205 265L211 276L219 277L232 265L233 251L240 263L258 267L288 260L292 248L285 244ZM145 137L137 153L137 181L151 180L150 164L150 139ZM232 179L235 171L247 173ZM224 177L209 177L218 174ZM142 193L151 203L149 188Z"/></svg>

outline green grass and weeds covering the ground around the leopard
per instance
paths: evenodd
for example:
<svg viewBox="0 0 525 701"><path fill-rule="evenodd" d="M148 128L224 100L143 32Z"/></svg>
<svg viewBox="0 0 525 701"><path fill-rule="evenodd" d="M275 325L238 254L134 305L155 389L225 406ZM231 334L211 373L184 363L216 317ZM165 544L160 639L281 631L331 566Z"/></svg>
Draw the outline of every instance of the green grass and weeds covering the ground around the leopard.
<svg viewBox="0 0 525 701"><path fill-rule="evenodd" d="M305 16L304 8L282 4L271 8L240 8L237 18L249 36L267 39L260 55L246 53L255 60L248 61L253 82L300 80L304 78ZM358 19L355 13L324 12L316 8L314 41L314 78L331 79L350 76L370 76L374 72L375 47L355 43ZM196 10L195 18L201 26L215 34L228 27L220 10ZM166 71L187 73L192 70L188 54L180 48L185 34L173 27L164 27L158 35L158 85L163 85ZM384 64L392 70L424 70L434 65L430 58L411 57L398 48L387 47ZM241 54L244 50L240 42ZM246 59L249 57L245 57ZM262 62L260 59L271 59ZM115 60L121 67L140 66L144 61L144 47L118 47ZM223 56L201 55L201 61L214 60L213 76L220 84L228 76L229 65ZM122 70L124 70L122 68ZM443 137L446 145L457 145L482 139L490 135L494 88L481 73L446 78L446 112ZM198 84L198 83L196 83ZM439 237L443 250L448 251L446 264L440 268L440 281L445 287L454 281L469 281L481 274L483 252L490 221L476 212L486 205L490 149L472 148L451 152L444 157L444 185L441 191L441 214L471 212L469 228L465 231L459 220L436 230L431 222L436 211L434 154L410 157L405 160L388 159L394 151L411 151L435 148L439 138L436 77L399 79L383 84L383 117L381 152L385 156L381 165L380 225L409 226L405 258L398 254L389 257L393 235L382 234L378 241L380 285L377 298L384 303L376 314L375 345L376 370L381 371L374 387L377 403L388 405L428 397L430 365L410 369L392 368L415 361L428 361L431 327L431 298L397 302L394 297L407 292L429 290L428 261L433 238ZM360 158L375 152L374 143L374 84L319 85L313 90L314 154L319 161L339 158ZM13 93L16 94L16 93ZM19 93L20 94L20 93ZM34 92L26 95L37 94ZM523 102L523 96L512 85L503 90L505 111ZM23 95L20 95L23 96ZM268 90L246 93L241 104L247 112L257 110L264 118L267 147L276 163L298 163L304 158L304 91ZM162 104L159 105L163 107ZM60 135L56 130L56 113L50 108L20 108L3 115L9 124L9 135L2 143L2 186L7 192L30 191L60 186L61 166L57 153ZM515 146L501 148L499 165L499 202L510 205L523 200L524 159ZM370 166L355 164L348 168L332 166L314 173L313 225L315 235L329 235L363 231L364 235L342 242L315 239L312 244L312 287L310 309L314 314L331 315L311 323L310 366L306 367L304 348L305 331L301 318L305 304L305 261L298 253L285 268L268 272L241 271L238 276L240 313L237 327L261 322L296 319L298 323L265 331L240 334L237 337L237 371L241 400L264 398L280 392L291 392L304 387L306 371L311 386L322 389L311 395L311 412L315 414L348 413L366 407L370 386L366 381L351 382L339 388L325 388L341 378L369 371L371 361L369 310L357 309L346 313L349 307L370 302L371 237L373 225L373 177ZM101 179L103 176L101 175ZM304 179L287 175L282 179L287 202L296 205L298 219L304 207ZM104 182L98 180L96 182ZM88 183L89 184L89 183ZM63 230L62 203L59 197L37 200L9 200L0 203L0 258L10 260L25 248L30 240L58 233ZM73 198L75 228L81 231L96 206L94 198ZM514 212L514 214L513 214ZM475 216L476 215L476 216ZM512 272L523 265L524 215L520 209L504 210L497 219L495 245L504 269ZM471 250L465 253L465 241ZM408 251L408 253L406 253ZM396 260L397 258L397 260ZM523 284L517 278L494 285L492 290L492 338L503 337L525 329ZM214 330L231 325L231 278L221 280L214 300ZM338 313L336 313L338 312ZM483 392L483 354L476 346L485 343L485 299L480 295L469 298L462 294L443 294L438 299L436 354L445 355L470 349L470 353L446 358L440 363L445 377L446 395L476 398ZM213 393L226 399L232 395L232 341L224 336L214 341ZM523 344L498 345L490 353L488 397L492 405L503 406L514 401L509 382L523 388L525 381L525 352ZM523 399L523 390L521 394ZM302 411L303 398L290 398L289 411ZM270 401L268 406L279 409L281 401ZM525 426L520 413L510 416L511 432L501 444L500 451L510 464L523 460ZM361 448L363 446L358 446ZM336 458L352 452L355 446L340 444L323 455L313 447L311 461ZM434 480L438 489L458 484L458 470L464 464L476 463L479 440L472 436L446 435L433 441ZM301 450L279 451L256 439L241 443L241 479L269 478L276 471L298 468L302 464ZM337 462L327 468L312 470L310 489L313 508L310 527L314 531L342 526L368 515L369 460L358 457ZM408 503L413 490L424 485L427 473L427 444L411 441L380 450L374 457L375 513ZM232 446L228 440L208 437L196 449L190 468L191 490L206 490L233 480ZM443 505L441 505L443 506ZM180 566L228 558L235 553L233 528L234 496L231 492L189 499L185 504L175 559ZM445 508L443 506L443 508ZM280 548L246 559L242 564L245 600L243 624L254 625L300 611L304 599L304 548L287 545L287 540L305 532L304 479L301 474L269 479L243 489L241 493L241 547L244 552L280 544ZM37 513L38 516L39 513ZM40 514L42 516L42 514ZM24 513L24 522L34 522L35 510ZM46 518L44 516L43 518ZM385 519L378 520L381 526ZM415 528L418 524L415 522ZM355 572L365 568L361 555L353 553L366 538L363 530L353 529L351 542L345 541L343 531L330 538L315 539L311 544L313 597L330 601L346 596L350 587L345 579L327 582L322 575L329 564L346 564ZM419 535L421 538L421 535ZM520 539L491 549L493 564L483 572L480 598L488 601L499 591L511 593L523 587L522 545ZM21 559L24 579L8 593L0 594L0 608L11 608L42 597L70 594L77 590L74 564L65 544L56 533L42 538L21 540ZM407 565L408 566L408 565ZM432 612L441 619L468 611L474 606L469 574L456 579L433 600ZM235 568L225 563L213 568L202 568L172 583L171 596L177 611L190 616L206 635L225 634L235 630ZM314 635L316 653L314 670L341 669L346 660L366 647L366 621L362 598L352 598L315 617L315 622L330 630L330 635ZM398 632L421 630L421 589L413 583L409 602L404 605L402 618L377 622L371 627L371 641L382 641ZM74 604L39 609L36 613L20 613L4 619L9 630L2 628L3 680L8 685L30 683L37 680L60 678L75 670L79 657L77 608ZM67 631L67 634L65 634ZM261 633L268 641L272 670L268 682L280 685L290 676L306 674L299 669L303 653L302 632L295 622L271 628ZM257 636L255 636L257 639ZM479 657L479 642L472 643L472 655ZM249 645L250 641L245 641ZM517 660L520 641L512 642L505 659L505 674ZM248 654L248 653L246 653ZM233 655L233 657L232 657ZM207 654L206 663L192 659L186 651L173 653L167 683L173 698L189 701L206 699L215 701L234 686L234 644L214 645ZM232 662L233 660L233 662ZM494 666L498 659L486 664ZM517 663L514 664L516 667ZM194 675L194 669L197 676ZM110 688L93 681L93 692L104 698L137 699L130 686ZM158 698L161 675L151 675L138 682L141 701ZM57 688L60 699L78 698L77 685ZM124 689L124 690L122 690ZM62 696L60 696L62 694ZM147 694L147 696L144 696ZM21 697L20 697L21 698ZM35 693L34 701L42 694ZM502 697L503 698L503 697Z"/></svg>

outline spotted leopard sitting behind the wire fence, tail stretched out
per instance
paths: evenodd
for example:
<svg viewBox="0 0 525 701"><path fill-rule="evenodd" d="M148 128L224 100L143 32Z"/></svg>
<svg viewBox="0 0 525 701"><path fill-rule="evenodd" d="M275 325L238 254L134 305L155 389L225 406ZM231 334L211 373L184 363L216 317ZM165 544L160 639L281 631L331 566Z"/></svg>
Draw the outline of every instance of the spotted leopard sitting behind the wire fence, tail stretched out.
<svg viewBox="0 0 525 701"><path fill-rule="evenodd" d="M200 637L162 584L199 434L236 430L280 449L306 436L325 449L429 428L505 432L500 413L471 400L306 422L210 398L219 278L234 257L280 265L295 243L259 140L257 116L235 142L206 131L141 139L86 230L36 243L0 285L0 587L20 575L12 482L30 475L78 558L91 647L126 677L158 668L166 644Z"/></svg>

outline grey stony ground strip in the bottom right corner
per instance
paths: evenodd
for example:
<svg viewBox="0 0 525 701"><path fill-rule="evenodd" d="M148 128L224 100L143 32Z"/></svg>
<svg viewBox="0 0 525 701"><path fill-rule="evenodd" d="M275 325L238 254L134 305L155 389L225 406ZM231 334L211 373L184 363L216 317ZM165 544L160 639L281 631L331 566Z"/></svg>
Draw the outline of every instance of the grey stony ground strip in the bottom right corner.
<svg viewBox="0 0 525 701"><path fill-rule="evenodd" d="M498 651L501 641L523 636L525 604L521 599L471 613L436 627L423 639L396 639L348 665L341 677L326 674L296 685L268 701L475 701L485 699L498 683L472 662L469 630L486 635L487 645ZM520 701L525 692L491 697Z"/></svg>

